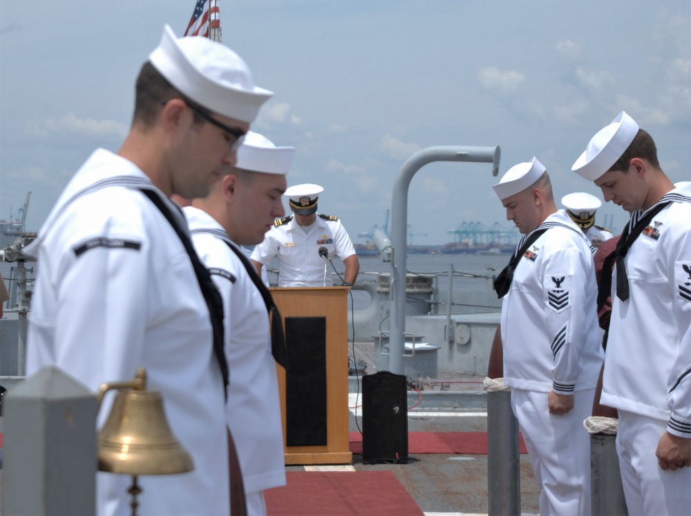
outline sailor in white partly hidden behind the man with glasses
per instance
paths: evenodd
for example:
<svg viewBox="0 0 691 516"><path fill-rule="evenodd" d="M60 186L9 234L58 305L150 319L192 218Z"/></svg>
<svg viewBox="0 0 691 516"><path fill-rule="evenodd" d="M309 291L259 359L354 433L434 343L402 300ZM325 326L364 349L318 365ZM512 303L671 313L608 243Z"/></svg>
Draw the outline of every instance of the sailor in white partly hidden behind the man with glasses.
<svg viewBox="0 0 691 516"><path fill-rule="evenodd" d="M184 208L194 246L223 297L231 375L226 417L249 516L266 514L263 490L285 485L285 461L269 312L255 281L263 284L249 258L243 261L238 253L244 249L240 244L261 242L274 219L283 216L281 195L293 154L293 147L276 147L250 131L238 149L236 168L207 197Z"/></svg>

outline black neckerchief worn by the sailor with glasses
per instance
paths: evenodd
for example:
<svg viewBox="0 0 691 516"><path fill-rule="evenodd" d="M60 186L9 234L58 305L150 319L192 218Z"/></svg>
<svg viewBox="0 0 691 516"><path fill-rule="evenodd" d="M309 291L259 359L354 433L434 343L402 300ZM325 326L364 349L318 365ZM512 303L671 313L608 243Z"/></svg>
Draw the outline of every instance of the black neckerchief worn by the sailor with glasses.
<svg viewBox="0 0 691 516"><path fill-rule="evenodd" d="M191 241L187 232L180 227L179 221L176 220L175 215L171 212L171 209L166 206L163 199L161 199L156 192L153 190L141 189L146 197L149 197L156 208L160 210L164 217L175 230L176 234L182 241L182 246L184 250L187 251L189 255L189 260L192 262L192 267L194 268L194 274L199 282L199 288L204 295L204 300L207 302L207 307L209 308L209 319L211 319L211 328L214 330L214 355L216 355L216 360L218 360L218 366L220 367L221 375L223 375L223 392L225 393L227 399L227 386L228 386L228 363L225 359L225 352L223 350L223 299L220 297L220 293L214 284L214 280L211 279L209 270L202 264L197 253L192 247Z"/></svg>

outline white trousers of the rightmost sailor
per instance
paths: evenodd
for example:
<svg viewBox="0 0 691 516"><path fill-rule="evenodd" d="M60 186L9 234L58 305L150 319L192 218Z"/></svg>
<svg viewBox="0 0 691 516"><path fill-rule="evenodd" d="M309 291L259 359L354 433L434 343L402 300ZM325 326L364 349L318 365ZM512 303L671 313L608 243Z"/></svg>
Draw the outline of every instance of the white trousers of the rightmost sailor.
<svg viewBox="0 0 691 516"><path fill-rule="evenodd" d="M616 453L629 516L691 514L691 468L660 468L655 450L667 421L619 410Z"/></svg>

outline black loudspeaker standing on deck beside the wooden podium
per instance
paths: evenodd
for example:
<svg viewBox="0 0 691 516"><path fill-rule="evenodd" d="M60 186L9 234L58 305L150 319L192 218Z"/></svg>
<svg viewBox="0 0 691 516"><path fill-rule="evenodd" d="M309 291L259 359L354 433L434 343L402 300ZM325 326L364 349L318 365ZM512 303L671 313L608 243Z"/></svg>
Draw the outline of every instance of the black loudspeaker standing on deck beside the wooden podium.
<svg viewBox="0 0 691 516"><path fill-rule="evenodd" d="M362 459L406 462L408 384L404 375L380 371L362 377Z"/></svg>

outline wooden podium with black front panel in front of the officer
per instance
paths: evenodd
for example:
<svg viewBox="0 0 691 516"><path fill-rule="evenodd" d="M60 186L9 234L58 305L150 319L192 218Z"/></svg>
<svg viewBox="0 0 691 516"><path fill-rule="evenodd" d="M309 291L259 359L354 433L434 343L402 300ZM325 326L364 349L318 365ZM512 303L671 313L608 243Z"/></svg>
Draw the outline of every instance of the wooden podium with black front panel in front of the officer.
<svg viewBox="0 0 691 516"><path fill-rule="evenodd" d="M271 288L289 373L278 370L285 464L351 464L348 287Z"/></svg>

